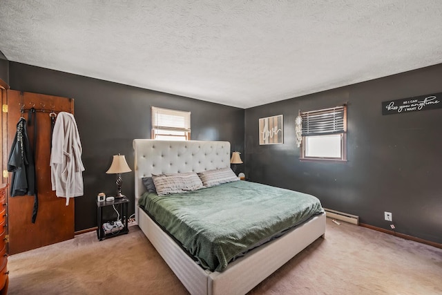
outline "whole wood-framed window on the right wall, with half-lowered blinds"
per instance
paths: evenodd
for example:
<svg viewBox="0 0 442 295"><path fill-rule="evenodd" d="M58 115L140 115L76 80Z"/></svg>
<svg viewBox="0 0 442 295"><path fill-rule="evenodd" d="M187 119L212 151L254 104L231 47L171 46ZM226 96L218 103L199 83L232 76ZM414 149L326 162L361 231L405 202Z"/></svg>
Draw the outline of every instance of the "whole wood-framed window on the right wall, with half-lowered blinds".
<svg viewBox="0 0 442 295"><path fill-rule="evenodd" d="M300 117L301 160L347 160L347 106L304 112Z"/></svg>

